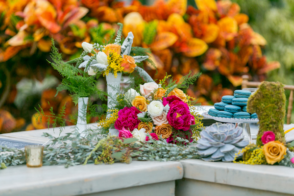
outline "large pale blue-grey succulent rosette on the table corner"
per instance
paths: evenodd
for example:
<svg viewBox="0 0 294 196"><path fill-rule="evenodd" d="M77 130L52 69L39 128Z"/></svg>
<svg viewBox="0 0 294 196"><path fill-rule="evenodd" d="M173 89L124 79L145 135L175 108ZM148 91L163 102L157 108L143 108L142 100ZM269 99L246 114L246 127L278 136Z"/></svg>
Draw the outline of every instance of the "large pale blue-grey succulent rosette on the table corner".
<svg viewBox="0 0 294 196"><path fill-rule="evenodd" d="M196 147L204 161L233 161L235 154L249 144L244 141L242 128L232 123L214 123L201 131L200 136Z"/></svg>

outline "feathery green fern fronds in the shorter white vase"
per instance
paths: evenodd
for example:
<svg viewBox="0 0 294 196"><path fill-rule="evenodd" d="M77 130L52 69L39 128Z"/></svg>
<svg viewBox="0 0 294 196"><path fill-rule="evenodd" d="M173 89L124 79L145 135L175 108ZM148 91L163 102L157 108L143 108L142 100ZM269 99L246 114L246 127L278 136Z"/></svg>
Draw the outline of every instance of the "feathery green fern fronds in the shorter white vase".
<svg viewBox="0 0 294 196"><path fill-rule="evenodd" d="M52 39L52 50L51 50L52 62L49 62L52 67L57 70L63 79L61 84L56 88L56 95L63 90L69 91L73 102L76 104L78 98L91 97L105 99L105 92L97 89L95 85L95 76L89 76L82 70L74 67L73 65L63 62L61 54L58 52L58 49L54 45ZM73 61L72 61L73 62ZM90 62L90 61L89 61Z"/></svg>

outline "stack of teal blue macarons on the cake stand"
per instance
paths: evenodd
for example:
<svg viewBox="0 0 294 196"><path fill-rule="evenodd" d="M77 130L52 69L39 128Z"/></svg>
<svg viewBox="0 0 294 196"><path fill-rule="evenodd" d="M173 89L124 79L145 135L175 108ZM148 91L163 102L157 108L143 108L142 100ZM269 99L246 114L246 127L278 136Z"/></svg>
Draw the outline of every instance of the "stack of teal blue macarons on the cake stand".
<svg viewBox="0 0 294 196"><path fill-rule="evenodd" d="M223 96L221 102L215 103L215 109L210 109L208 114L210 116L222 118L256 119L256 113L249 114L246 110L250 95L250 91L236 90L234 96Z"/></svg>

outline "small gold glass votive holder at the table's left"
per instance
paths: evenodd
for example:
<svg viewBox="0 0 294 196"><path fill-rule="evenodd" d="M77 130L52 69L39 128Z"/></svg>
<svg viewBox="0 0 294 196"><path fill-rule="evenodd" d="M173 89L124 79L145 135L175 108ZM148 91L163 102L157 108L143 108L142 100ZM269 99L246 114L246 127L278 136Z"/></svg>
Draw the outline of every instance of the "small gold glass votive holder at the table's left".
<svg viewBox="0 0 294 196"><path fill-rule="evenodd" d="M41 145L25 146L26 166L29 168L38 168L43 165L43 149Z"/></svg>

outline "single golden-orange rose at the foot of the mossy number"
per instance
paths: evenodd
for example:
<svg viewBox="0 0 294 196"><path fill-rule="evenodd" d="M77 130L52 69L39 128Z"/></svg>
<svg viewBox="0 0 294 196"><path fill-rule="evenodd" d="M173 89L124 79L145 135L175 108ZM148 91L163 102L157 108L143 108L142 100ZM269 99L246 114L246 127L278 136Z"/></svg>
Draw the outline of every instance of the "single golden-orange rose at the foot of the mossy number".
<svg viewBox="0 0 294 196"><path fill-rule="evenodd" d="M284 155L286 155L286 150L287 147L280 141L271 141L263 146L267 162L271 165L280 162L284 158Z"/></svg>

